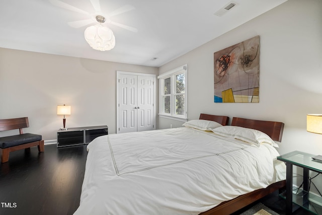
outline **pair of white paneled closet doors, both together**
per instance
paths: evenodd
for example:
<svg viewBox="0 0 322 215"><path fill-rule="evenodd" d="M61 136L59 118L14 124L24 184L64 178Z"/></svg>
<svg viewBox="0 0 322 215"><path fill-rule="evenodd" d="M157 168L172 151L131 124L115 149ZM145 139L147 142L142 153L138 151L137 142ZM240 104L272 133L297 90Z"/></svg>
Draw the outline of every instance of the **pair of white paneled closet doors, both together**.
<svg viewBox="0 0 322 215"><path fill-rule="evenodd" d="M116 132L155 129L155 75L117 71Z"/></svg>

